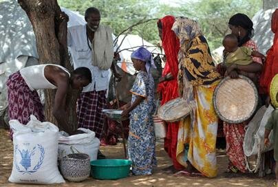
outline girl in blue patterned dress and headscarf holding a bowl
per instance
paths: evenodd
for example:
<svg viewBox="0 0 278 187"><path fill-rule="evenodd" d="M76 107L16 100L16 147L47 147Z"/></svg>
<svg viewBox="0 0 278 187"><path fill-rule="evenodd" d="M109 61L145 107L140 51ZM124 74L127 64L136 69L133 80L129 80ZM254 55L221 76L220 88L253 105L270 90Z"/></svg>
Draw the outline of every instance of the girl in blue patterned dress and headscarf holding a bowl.
<svg viewBox="0 0 278 187"><path fill-rule="evenodd" d="M154 133L154 83L149 72L155 67L151 53L144 47L131 54L133 67L139 71L131 88L131 102L121 107L122 116L130 114L128 152L133 162L133 175L151 175L156 166L156 138Z"/></svg>

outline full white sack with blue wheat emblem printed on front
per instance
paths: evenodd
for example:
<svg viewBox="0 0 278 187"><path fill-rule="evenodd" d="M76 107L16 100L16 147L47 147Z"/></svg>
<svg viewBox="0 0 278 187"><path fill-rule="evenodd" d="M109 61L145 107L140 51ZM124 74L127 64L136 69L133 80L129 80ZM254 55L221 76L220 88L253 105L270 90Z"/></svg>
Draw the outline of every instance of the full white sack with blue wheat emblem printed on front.
<svg viewBox="0 0 278 187"><path fill-rule="evenodd" d="M63 183L57 167L58 127L30 115L24 125L10 120L14 131L14 162L9 181L22 184Z"/></svg>

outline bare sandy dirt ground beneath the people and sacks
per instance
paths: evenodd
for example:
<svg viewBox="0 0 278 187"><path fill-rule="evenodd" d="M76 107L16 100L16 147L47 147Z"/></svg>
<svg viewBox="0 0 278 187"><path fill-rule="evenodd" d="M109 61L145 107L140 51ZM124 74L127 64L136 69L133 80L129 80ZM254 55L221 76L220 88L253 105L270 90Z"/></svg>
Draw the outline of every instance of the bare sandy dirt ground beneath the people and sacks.
<svg viewBox="0 0 278 187"><path fill-rule="evenodd" d="M118 180L96 180L89 177L82 182L66 182L56 185L26 185L11 184L8 181L12 171L13 147L8 137L8 131L0 129L0 186L272 186L274 175L264 178L257 177L257 174L231 175L224 173L228 164L228 158L224 150L217 150L218 176L213 179L206 177L174 177L165 173L162 169L171 166L171 160L163 149L163 142L156 144L158 167L150 176L131 176ZM122 144L117 146L101 146L100 150L107 158L123 158L124 151Z"/></svg>

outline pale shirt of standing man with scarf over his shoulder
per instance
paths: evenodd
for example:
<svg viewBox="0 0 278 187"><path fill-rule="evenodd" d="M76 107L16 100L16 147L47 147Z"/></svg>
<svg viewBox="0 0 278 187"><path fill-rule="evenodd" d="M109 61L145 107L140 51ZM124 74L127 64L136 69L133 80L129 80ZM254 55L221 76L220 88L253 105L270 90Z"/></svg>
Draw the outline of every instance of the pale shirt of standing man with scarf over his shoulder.
<svg viewBox="0 0 278 187"><path fill-rule="evenodd" d="M92 73L92 83L83 88L83 92L101 91L108 89L109 70L102 70L92 65L92 44L87 38L86 25L78 25L67 28L67 45L72 54L74 69L77 67L87 67Z"/></svg>

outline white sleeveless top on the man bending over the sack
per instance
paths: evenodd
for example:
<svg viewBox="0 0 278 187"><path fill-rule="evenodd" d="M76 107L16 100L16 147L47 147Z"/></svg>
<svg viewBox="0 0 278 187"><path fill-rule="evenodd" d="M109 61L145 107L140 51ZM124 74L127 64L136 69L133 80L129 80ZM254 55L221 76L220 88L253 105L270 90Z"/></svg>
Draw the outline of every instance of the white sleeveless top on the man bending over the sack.
<svg viewBox="0 0 278 187"><path fill-rule="evenodd" d="M44 65L31 65L28 67L24 67L19 70L22 78L25 80L25 83L28 85L30 90L34 91L35 89L56 89L57 87L50 83L45 78L45 66L54 65L54 64L44 64ZM60 67L65 72L67 69L61 65L54 65ZM69 72L67 72L69 74ZM70 76L70 74L69 74Z"/></svg>

